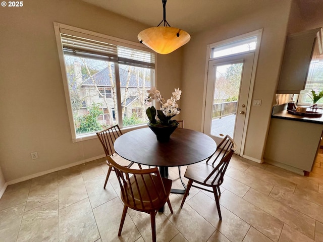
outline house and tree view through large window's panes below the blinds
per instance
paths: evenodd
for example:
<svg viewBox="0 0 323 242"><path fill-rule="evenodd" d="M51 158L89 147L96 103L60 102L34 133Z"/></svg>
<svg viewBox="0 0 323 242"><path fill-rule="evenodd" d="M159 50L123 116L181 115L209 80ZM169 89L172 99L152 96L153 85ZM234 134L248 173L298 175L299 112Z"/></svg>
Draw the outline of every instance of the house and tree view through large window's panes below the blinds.
<svg viewBox="0 0 323 242"><path fill-rule="evenodd" d="M65 63L76 133L93 133L120 124L112 111L118 110L115 64L69 55L65 55ZM147 123L141 113L147 108L144 100L151 87L151 71L119 65L119 77L122 126Z"/></svg>

